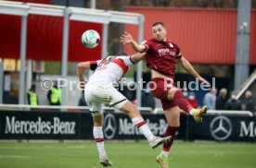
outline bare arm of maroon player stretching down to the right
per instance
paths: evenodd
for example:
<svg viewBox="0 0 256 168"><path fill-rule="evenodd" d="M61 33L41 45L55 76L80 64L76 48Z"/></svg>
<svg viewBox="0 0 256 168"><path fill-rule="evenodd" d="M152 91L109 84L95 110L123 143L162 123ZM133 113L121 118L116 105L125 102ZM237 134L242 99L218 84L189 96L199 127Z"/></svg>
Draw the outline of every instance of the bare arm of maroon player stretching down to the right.
<svg viewBox="0 0 256 168"><path fill-rule="evenodd" d="M202 78L198 72L194 69L193 66L191 66L191 64L186 60L186 58L184 56L182 56L179 59L179 63L186 69L186 71L191 74L192 76L194 76L195 78L198 78L198 80L200 82L202 82L204 85L209 86L209 83L206 79Z"/></svg>

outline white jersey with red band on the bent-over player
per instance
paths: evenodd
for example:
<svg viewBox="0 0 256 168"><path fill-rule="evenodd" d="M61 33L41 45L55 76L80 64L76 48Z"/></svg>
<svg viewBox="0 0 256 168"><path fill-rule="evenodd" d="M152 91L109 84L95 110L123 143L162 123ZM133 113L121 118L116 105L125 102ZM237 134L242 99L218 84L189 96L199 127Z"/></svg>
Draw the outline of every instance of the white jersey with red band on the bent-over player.
<svg viewBox="0 0 256 168"><path fill-rule="evenodd" d="M103 81L107 83L115 83L122 78L129 67L134 63L131 56L108 56L103 60L96 61L97 67L95 73L89 78L89 83Z"/></svg>

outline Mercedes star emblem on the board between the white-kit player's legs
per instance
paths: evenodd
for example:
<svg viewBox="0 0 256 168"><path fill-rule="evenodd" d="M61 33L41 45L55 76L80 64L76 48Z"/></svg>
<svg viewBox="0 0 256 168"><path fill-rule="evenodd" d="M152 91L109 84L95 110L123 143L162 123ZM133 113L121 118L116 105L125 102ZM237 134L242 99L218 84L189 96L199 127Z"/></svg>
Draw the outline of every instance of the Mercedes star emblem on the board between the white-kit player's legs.
<svg viewBox="0 0 256 168"><path fill-rule="evenodd" d="M116 118L113 114L107 114L104 119L104 135L105 138L114 138L117 130Z"/></svg>

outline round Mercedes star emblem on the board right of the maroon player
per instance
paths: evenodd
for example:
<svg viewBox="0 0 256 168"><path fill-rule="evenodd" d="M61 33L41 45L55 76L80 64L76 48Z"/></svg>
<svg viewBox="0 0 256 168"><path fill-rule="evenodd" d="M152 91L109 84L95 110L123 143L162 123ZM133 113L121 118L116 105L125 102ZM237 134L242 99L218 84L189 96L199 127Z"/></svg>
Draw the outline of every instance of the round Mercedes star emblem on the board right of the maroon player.
<svg viewBox="0 0 256 168"><path fill-rule="evenodd" d="M230 120L223 115L216 116L211 121L211 136L216 140L224 140L229 138L232 133L232 124Z"/></svg>

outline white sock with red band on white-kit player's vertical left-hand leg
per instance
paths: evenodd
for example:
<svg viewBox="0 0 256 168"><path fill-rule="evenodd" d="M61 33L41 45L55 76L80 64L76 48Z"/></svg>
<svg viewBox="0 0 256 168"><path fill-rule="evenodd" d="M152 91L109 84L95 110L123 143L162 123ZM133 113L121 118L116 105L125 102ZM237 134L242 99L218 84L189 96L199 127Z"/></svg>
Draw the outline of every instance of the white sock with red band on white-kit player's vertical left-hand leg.
<svg viewBox="0 0 256 168"><path fill-rule="evenodd" d="M107 157L105 148L104 148L104 137L102 126L94 126L94 138L96 139L96 148L100 158Z"/></svg>

